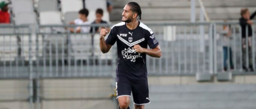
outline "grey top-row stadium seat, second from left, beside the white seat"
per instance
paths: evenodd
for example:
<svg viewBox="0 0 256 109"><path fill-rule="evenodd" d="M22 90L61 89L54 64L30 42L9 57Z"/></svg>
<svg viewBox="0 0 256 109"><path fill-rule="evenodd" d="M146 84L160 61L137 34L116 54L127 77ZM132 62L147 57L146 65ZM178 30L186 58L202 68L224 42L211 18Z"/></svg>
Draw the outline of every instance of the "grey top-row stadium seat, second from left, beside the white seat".
<svg viewBox="0 0 256 109"><path fill-rule="evenodd" d="M58 11L58 3L56 0L39 0L38 12L43 11Z"/></svg>

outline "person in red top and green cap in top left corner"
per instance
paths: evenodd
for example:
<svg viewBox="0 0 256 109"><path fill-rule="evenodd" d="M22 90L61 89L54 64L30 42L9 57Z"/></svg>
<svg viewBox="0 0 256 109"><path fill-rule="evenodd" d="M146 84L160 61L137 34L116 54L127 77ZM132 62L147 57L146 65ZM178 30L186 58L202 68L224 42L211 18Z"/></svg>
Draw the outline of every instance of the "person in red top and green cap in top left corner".
<svg viewBox="0 0 256 109"><path fill-rule="evenodd" d="M8 13L8 1L0 2L0 23L10 24L10 14Z"/></svg>

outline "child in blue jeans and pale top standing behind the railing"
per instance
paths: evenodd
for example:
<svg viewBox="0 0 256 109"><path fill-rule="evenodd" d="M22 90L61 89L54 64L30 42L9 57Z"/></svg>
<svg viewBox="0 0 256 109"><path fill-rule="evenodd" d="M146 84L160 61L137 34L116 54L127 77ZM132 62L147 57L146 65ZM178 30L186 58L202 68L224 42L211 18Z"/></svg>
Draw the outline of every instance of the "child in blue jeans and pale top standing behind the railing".
<svg viewBox="0 0 256 109"><path fill-rule="evenodd" d="M224 21L226 22L226 21ZM233 61L232 61L232 49L230 47L230 39L231 37L231 30L230 30L230 25L224 25L223 26L223 31L222 31L222 44L223 44L223 54L224 54L224 71L227 71L227 60L229 60L230 63L230 69L234 69L233 66Z"/></svg>

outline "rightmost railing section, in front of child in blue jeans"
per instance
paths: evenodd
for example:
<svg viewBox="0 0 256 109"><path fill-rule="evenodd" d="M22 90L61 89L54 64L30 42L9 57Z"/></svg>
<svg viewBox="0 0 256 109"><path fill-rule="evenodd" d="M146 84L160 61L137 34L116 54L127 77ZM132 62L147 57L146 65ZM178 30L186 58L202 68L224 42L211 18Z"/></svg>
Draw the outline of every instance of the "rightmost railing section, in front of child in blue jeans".
<svg viewBox="0 0 256 109"><path fill-rule="evenodd" d="M252 37L248 36L247 26L246 37L242 38L242 27L239 23L217 22L214 24L214 72L216 74L225 71L244 74L243 72L250 67L255 69L255 28L254 25L251 27Z"/></svg>

